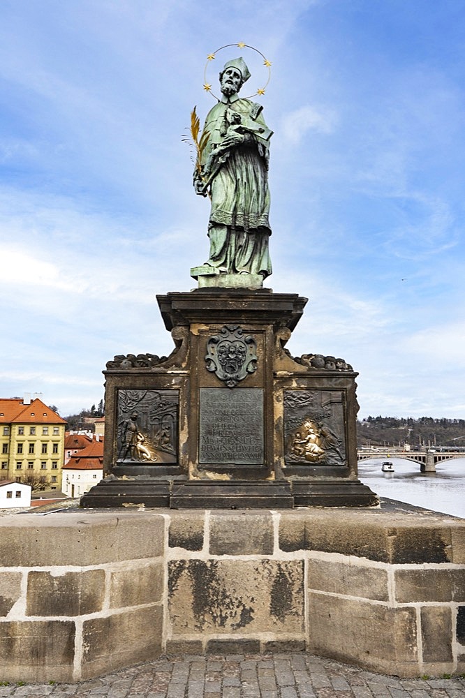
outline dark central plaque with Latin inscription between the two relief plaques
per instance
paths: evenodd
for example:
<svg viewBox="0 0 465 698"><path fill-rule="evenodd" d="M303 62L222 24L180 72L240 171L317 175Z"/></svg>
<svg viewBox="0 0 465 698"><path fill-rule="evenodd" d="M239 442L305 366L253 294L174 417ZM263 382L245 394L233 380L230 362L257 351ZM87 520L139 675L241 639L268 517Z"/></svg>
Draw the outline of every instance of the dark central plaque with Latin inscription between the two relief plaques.
<svg viewBox="0 0 465 698"><path fill-rule="evenodd" d="M200 388L199 463L263 465L262 388Z"/></svg>

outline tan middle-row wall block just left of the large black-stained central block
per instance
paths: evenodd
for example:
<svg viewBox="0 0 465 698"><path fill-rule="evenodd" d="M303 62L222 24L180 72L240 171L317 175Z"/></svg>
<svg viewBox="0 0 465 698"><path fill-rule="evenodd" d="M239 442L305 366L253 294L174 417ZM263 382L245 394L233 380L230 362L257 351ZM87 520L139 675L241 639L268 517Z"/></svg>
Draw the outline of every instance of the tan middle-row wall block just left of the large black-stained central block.
<svg viewBox="0 0 465 698"><path fill-rule="evenodd" d="M163 594L163 565L161 562L112 572L110 608L153 604Z"/></svg>

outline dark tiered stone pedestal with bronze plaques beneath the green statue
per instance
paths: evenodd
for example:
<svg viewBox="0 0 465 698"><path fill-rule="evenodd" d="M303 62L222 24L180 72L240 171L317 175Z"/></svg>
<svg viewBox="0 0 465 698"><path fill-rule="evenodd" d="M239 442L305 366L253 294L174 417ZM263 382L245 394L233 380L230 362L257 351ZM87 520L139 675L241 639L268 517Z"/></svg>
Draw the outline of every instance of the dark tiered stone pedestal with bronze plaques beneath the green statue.
<svg viewBox="0 0 465 698"><path fill-rule="evenodd" d="M157 297L169 357L105 371L105 479L84 507L376 506L357 480L357 373L284 348L307 299L266 288Z"/></svg>

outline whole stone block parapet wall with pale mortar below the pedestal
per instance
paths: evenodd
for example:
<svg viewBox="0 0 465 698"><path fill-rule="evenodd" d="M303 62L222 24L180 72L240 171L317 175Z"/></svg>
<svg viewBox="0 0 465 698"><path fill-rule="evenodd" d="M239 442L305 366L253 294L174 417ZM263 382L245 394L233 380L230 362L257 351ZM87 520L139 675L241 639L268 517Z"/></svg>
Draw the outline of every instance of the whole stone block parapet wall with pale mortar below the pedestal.
<svg viewBox="0 0 465 698"><path fill-rule="evenodd" d="M165 652L270 650L463 673L464 533L418 510L3 517L1 676L80 681Z"/></svg>

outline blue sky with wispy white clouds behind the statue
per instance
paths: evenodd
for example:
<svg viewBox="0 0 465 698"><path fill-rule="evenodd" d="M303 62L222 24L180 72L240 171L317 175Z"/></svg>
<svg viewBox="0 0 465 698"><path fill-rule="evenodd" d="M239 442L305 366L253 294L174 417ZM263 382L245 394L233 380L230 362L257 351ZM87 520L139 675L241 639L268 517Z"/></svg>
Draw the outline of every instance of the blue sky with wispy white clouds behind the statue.
<svg viewBox="0 0 465 698"><path fill-rule="evenodd" d="M346 359L360 418L464 418L464 36L463 0L2 0L0 396L66 416L170 353L155 296L209 248L182 135L246 43L288 349Z"/></svg>

